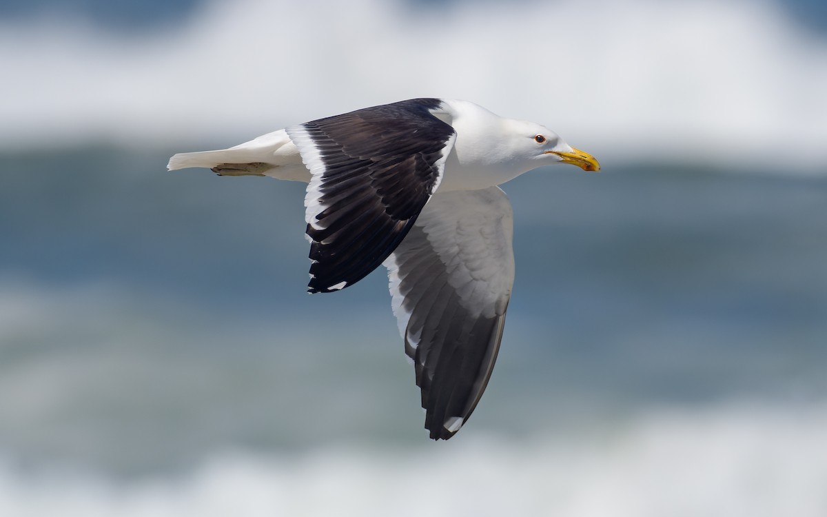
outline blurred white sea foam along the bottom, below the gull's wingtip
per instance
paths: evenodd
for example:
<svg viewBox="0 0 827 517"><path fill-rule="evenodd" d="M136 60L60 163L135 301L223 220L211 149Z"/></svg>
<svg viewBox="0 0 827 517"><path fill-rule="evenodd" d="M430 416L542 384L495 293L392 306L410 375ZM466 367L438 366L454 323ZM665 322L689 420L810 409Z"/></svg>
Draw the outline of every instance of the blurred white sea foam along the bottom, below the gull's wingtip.
<svg viewBox="0 0 827 517"><path fill-rule="evenodd" d="M177 475L22 474L0 462L0 515L827 515L827 411L653 412L522 443L225 452Z"/></svg>

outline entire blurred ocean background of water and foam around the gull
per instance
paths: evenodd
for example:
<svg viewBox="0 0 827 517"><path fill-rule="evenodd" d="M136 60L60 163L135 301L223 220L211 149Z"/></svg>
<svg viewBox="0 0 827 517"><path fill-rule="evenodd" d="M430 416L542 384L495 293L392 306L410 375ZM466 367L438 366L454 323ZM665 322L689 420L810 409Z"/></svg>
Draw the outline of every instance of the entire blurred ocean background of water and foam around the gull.
<svg viewBox="0 0 827 517"><path fill-rule="evenodd" d="M827 3L0 0L0 515L827 515ZM517 279L423 430L384 270L178 151L413 97L600 175L504 185Z"/></svg>

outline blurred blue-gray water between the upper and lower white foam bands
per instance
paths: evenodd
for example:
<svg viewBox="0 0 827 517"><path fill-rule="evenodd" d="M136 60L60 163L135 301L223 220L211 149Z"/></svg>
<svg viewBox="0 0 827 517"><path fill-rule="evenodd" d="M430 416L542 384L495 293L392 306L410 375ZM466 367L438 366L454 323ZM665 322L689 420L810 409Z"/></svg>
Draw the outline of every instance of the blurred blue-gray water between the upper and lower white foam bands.
<svg viewBox="0 0 827 517"><path fill-rule="evenodd" d="M609 162L600 175L555 167L504 185L517 280L500 360L469 423L437 444L422 428L384 271L304 294L304 185L167 172L170 151L0 156L0 477L201 472L192 490L208 498L214 466L203 463L227 451L282 458L270 470L215 460L217 476L241 469L269 493L351 468L404 483L428 472L415 457L443 462L448 476L451 462L490 459L480 448L491 443L501 460L491 468L542 478L552 464L588 470L561 452L604 451L584 434L614 437L596 442L610 451L649 450L642 437L665 428L688 445L658 457L686 463L704 456L675 429L696 425L699 450L729 451L715 457L762 429L807 448L813 429L827 429L822 409L810 410L827 401L819 171ZM664 411L685 425L650 420ZM392 451L405 467L354 450ZM320 457L331 463L308 467ZM773 472L800 471L778 457ZM825 462L809 465L824 476ZM31 503L19 482L0 488Z"/></svg>

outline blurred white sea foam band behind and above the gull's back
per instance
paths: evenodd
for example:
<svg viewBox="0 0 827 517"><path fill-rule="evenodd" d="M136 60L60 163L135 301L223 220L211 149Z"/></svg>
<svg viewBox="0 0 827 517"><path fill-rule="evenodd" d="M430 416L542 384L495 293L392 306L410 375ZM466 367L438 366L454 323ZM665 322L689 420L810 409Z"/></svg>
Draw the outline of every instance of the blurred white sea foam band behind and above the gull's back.
<svg viewBox="0 0 827 517"><path fill-rule="evenodd" d="M827 41L772 2L240 0L143 36L0 22L0 49L7 148L195 148L440 96L543 122L604 160L821 170L827 152Z"/></svg>

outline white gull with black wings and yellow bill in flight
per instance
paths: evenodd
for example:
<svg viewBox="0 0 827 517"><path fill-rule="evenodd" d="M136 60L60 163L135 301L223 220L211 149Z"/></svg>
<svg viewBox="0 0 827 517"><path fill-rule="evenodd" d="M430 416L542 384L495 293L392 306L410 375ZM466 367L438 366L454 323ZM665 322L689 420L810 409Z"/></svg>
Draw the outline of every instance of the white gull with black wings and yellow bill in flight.
<svg viewBox="0 0 827 517"><path fill-rule="evenodd" d="M435 440L451 438L491 376L514 285L513 213L498 187L528 170L598 171L539 124L415 98L172 156L168 170L304 181L308 292L388 270L391 307Z"/></svg>

